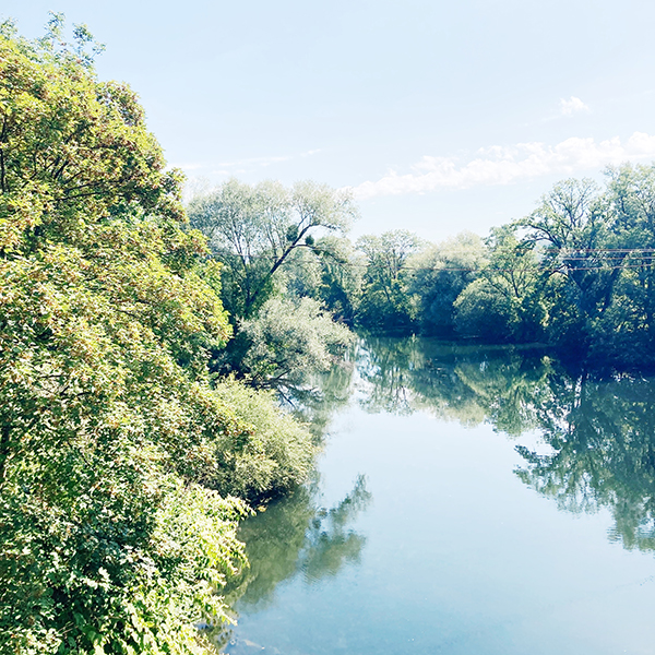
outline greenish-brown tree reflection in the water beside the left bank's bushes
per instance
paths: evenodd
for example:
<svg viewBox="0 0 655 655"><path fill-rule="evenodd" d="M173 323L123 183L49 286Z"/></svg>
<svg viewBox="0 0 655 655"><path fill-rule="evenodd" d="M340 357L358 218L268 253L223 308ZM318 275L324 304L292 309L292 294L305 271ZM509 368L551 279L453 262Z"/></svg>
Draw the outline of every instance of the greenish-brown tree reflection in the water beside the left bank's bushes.
<svg viewBox="0 0 655 655"><path fill-rule="evenodd" d="M346 563L359 561L366 539L352 524L371 500L365 477L358 477L353 490L332 509L320 507L319 500L314 483L242 523L240 538L247 544L250 567L225 591L230 607L237 611L265 607L285 580L301 575L314 584L336 575ZM224 629L211 635L218 648L230 636L231 631Z"/></svg>

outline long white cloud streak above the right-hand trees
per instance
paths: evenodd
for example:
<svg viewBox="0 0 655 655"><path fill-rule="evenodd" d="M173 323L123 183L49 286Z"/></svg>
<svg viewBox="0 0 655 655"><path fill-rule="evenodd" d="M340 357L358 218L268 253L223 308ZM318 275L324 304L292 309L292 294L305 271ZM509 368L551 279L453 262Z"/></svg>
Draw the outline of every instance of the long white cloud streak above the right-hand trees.
<svg viewBox="0 0 655 655"><path fill-rule="evenodd" d="M412 166L412 172L400 175L391 170L378 181L362 182L353 191L358 199L366 200L439 189L509 184L552 174L575 175L628 159L655 158L655 135L634 132L624 143L618 136L600 142L572 136L553 146L539 142L510 147L493 145L476 154L474 159L461 165L454 157L424 156Z"/></svg>

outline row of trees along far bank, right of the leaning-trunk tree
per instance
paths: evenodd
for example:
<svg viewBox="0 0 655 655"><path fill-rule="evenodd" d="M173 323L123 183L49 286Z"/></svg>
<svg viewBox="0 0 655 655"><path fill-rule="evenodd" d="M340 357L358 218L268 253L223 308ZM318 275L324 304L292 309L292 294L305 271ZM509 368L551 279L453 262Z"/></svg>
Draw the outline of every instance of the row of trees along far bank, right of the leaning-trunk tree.
<svg viewBox="0 0 655 655"><path fill-rule="evenodd" d="M484 241L464 233L432 245L393 230L354 245L345 236L312 238L302 253L253 261L278 264L269 269L270 295L312 298L369 333L543 343L570 362L652 368L655 166L606 172L605 188L590 180L556 184L531 215L491 229ZM226 183L221 198L233 188L240 187ZM198 225L214 234L200 218ZM229 293L242 296L240 287ZM242 362L241 354L234 364Z"/></svg>

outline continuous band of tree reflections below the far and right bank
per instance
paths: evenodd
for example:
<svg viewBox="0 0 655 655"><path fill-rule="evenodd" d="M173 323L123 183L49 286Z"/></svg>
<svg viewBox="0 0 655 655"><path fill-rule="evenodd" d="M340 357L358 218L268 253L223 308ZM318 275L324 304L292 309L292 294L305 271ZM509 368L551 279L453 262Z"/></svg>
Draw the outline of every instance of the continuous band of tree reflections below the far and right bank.
<svg viewBox="0 0 655 655"><path fill-rule="evenodd" d="M366 340L358 372L368 412L429 410L550 446L517 446L520 478L571 512L609 509L610 539L655 550L655 384L569 374L538 350ZM543 450L543 449L540 449Z"/></svg>

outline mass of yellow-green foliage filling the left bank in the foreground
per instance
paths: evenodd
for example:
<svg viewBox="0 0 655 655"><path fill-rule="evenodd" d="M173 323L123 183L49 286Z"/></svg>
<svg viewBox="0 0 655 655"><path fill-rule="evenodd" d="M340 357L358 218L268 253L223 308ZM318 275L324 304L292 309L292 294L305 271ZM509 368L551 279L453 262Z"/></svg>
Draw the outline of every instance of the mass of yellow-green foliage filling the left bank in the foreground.
<svg viewBox="0 0 655 655"><path fill-rule="evenodd" d="M135 95L61 29L0 33L0 652L201 653L245 562L227 495L288 489L313 449L210 384L218 265Z"/></svg>

